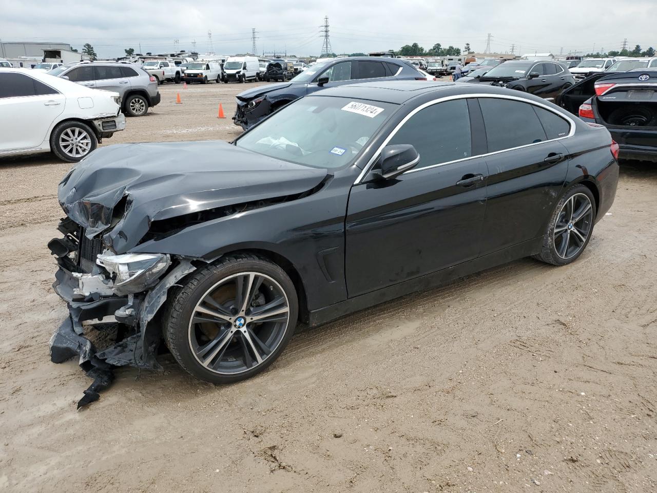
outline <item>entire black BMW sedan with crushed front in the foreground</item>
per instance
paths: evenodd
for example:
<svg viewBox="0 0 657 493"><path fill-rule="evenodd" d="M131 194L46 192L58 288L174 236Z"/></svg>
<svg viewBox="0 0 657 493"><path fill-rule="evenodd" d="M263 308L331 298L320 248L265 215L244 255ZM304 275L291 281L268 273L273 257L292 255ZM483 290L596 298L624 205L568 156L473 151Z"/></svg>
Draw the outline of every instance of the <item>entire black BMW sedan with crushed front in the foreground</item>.
<svg viewBox="0 0 657 493"><path fill-rule="evenodd" d="M51 340L95 382L265 369L318 325L524 256L576 260L616 193L618 147L532 95L377 82L295 101L232 144L124 144L64 177ZM162 344L164 341L164 344Z"/></svg>

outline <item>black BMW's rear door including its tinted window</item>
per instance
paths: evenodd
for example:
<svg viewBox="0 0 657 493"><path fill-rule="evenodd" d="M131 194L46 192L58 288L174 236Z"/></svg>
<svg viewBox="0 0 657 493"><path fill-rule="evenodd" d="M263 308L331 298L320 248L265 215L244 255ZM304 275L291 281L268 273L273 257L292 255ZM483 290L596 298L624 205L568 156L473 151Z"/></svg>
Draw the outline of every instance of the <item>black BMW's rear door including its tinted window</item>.
<svg viewBox="0 0 657 493"><path fill-rule="evenodd" d="M512 97L509 97L512 98ZM488 167L482 254L543 234L562 192L571 122L522 99L479 99Z"/></svg>

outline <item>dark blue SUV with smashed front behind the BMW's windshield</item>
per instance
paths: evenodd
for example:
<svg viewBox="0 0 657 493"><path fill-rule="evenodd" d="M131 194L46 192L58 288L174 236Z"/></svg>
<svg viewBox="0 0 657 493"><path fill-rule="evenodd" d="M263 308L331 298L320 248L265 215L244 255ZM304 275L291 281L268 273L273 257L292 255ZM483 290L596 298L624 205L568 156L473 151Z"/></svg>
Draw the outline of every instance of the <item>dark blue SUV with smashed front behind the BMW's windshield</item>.
<svg viewBox="0 0 657 493"><path fill-rule="evenodd" d="M321 89L374 80L426 80L407 60L349 57L318 62L290 82L261 85L237 95L235 125L248 129L295 99Z"/></svg>

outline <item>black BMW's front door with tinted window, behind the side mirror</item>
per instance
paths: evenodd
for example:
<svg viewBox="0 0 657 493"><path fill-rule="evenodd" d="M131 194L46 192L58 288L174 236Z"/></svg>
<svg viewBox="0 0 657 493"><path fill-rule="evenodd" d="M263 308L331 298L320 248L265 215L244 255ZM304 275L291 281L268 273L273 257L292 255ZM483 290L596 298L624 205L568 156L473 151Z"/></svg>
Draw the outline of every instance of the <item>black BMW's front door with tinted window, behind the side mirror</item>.
<svg viewBox="0 0 657 493"><path fill-rule="evenodd" d="M354 185L346 217L349 296L471 260L479 255L486 210L486 159L473 147L466 99L415 112L388 145L411 144L415 168Z"/></svg>

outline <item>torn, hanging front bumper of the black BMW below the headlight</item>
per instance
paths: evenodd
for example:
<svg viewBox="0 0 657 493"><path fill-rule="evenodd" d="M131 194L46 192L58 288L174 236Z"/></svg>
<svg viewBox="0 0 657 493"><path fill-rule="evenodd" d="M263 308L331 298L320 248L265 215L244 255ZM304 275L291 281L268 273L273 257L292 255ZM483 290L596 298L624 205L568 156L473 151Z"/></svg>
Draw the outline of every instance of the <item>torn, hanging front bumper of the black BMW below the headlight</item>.
<svg viewBox="0 0 657 493"><path fill-rule="evenodd" d="M51 337L50 354L53 363L78 356L79 366L93 379L79 400L78 409L99 399L99 392L114 380L117 367L129 365L162 371L156 360L161 331L153 319L166 301L169 289L194 270L196 267L191 260L179 259L177 266L145 296L130 294L77 300L76 296L83 295L74 287L79 279L67 276L60 268L53 287L68 303L69 316ZM74 293L74 296L66 293ZM99 346L104 347L99 350Z"/></svg>

